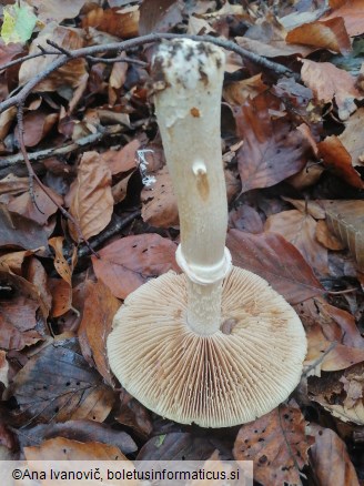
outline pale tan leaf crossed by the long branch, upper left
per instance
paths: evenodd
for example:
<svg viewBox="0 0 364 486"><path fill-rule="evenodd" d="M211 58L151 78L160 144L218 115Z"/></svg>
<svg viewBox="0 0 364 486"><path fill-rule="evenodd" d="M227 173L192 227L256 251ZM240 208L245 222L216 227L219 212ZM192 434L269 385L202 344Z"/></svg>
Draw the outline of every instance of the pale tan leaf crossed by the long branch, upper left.
<svg viewBox="0 0 364 486"><path fill-rule="evenodd" d="M58 26L54 22L51 22L32 41L29 53L39 53L38 45L42 45L48 50L48 39L67 50L80 49L83 48L84 44L80 30ZM44 71L48 65L58 58L58 55L41 55L37 59L24 61L19 71L19 84L26 84L39 72ZM74 89L80 85L84 79L84 74L87 74L85 60L73 59L55 72L49 74L43 81L40 81L37 84L36 91L69 91L70 88Z"/></svg>

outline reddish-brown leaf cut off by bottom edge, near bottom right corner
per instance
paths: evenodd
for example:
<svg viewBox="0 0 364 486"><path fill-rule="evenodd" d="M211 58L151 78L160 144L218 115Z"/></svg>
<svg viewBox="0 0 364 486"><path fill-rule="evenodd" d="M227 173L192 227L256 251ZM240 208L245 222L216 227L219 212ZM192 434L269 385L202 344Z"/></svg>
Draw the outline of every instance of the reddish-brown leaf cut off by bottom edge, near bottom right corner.
<svg viewBox="0 0 364 486"><path fill-rule="evenodd" d="M309 434L315 437L311 446L311 460L318 486L360 486L345 443L331 428L311 423Z"/></svg>

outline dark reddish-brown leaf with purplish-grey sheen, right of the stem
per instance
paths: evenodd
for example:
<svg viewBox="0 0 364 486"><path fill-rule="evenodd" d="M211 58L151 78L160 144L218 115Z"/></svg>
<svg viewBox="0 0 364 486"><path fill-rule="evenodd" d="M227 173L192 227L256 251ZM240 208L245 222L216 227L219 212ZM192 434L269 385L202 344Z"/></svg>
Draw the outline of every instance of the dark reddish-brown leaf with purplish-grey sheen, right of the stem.
<svg viewBox="0 0 364 486"><path fill-rule="evenodd" d="M309 143L285 118L273 120L263 93L235 115L244 144L237 152L242 192L269 188L303 169Z"/></svg>

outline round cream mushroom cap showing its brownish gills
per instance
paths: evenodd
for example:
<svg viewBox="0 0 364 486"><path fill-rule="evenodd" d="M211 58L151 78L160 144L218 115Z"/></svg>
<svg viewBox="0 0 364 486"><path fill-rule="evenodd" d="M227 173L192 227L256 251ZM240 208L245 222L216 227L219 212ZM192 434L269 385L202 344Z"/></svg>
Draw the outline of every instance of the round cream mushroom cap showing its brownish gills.
<svg viewBox="0 0 364 486"><path fill-rule="evenodd" d="M202 427L254 421L285 401L306 354L302 323L260 276L234 266L223 282L222 326L186 324L186 277L169 272L130 294L108 338L110 366L151 411Z"/></svg>

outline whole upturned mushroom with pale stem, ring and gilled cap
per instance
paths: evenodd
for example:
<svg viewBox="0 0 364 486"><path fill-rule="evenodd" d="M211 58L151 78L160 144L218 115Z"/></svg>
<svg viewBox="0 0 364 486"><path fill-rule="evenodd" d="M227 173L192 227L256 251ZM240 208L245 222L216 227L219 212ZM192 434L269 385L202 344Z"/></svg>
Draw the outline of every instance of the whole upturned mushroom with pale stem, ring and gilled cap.
<svg viewBox="0 0 364 486"><path fill-rule="evenodd" d="M151 411L182 424L254 421L300 381L306 338L294 310L260 276L231 264L220 139L224 53L191 40L153 60L155 113L178 199L182 274L132 294L108 338L110 366Z"/></svg>

